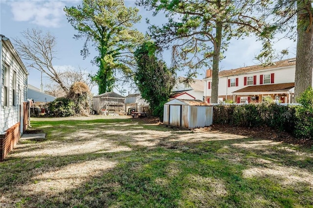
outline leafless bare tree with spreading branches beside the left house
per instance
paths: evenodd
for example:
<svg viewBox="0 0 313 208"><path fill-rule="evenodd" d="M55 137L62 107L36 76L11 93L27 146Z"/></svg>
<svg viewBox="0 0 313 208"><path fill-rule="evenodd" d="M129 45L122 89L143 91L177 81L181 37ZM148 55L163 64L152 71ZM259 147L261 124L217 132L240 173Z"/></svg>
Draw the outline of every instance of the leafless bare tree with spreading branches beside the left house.
<svg viewBox="0 0 313 208"><path fill-rule="evenodd" d="M49 32L43 33L40 29L27 29L21 32L20 38L13 38L14 46L21 58L25 60L25 66L37 69L45 73L51 80L60 85L64 92L68 92L63 83L61 72L57 71L52 64L55 55L56 38Z"/></svg>

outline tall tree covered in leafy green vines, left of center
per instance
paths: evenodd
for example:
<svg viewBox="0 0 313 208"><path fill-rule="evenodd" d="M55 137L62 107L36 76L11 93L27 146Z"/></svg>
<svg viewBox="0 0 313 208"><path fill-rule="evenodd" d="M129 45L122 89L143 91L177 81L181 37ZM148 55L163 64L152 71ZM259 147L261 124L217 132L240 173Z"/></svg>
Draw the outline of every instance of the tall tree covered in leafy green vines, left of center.
<svg viewBox="0 0 313 208"><path fill-rule="evenodd" d="M132 74L134 47L144 41L144 35L133 27L141 19L139 10L127 8L123 0L83 0L82 5L65 7L64 11L78 31L74 37L86 38L81 55L89 55L89 41L98 49L94 62L99 70L92 79L99 94L112 91L116 74Z"/></svg>

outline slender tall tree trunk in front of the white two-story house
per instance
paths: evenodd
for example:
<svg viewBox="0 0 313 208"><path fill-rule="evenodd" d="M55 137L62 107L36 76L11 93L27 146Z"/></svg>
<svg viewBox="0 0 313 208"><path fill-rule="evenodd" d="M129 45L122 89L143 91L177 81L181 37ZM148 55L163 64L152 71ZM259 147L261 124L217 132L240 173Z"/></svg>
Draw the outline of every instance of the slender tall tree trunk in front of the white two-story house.
<svg viewBox="0 0 313 208"><path fill-rule="evenodd" d="M216 23L216 37L213 54L212 64L212 91L211 91L211 103L218 103L219 96L219 70L220 70L220 53L222 43L222 30L223 23Z"/></svg>

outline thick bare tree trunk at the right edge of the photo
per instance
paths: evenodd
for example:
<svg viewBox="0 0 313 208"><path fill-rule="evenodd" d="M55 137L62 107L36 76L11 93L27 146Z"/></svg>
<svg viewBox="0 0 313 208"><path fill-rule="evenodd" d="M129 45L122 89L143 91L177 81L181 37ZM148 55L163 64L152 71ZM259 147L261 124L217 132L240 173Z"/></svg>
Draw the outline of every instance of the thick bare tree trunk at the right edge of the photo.
<svg viewBox="0 0 313 208"><path fill-rule="evenodd" d="M313 17L311 0L297 1L297 54L294 97L312 86L313 76Z"/></svg>

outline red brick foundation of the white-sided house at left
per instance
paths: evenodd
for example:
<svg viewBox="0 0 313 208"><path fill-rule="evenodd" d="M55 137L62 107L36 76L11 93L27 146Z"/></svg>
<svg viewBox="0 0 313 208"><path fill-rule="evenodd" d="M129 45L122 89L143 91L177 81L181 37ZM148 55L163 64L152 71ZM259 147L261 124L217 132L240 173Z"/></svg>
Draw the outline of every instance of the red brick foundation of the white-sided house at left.
<svg viewBox="0 0 313 208"><path fill-rule="evenodd" d="M18 143L21 133L20 133L21 123L17 123L4 134L0 135L0 162L2 162L5 157L13 150L13 147Z"/></svg>

